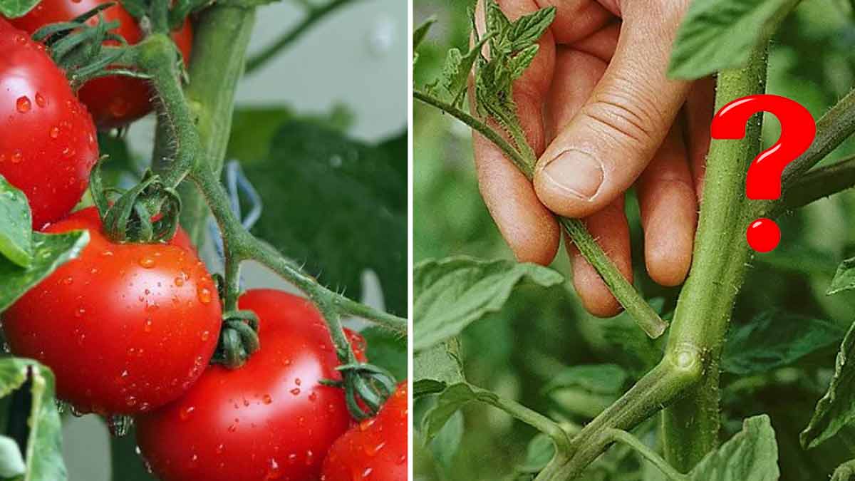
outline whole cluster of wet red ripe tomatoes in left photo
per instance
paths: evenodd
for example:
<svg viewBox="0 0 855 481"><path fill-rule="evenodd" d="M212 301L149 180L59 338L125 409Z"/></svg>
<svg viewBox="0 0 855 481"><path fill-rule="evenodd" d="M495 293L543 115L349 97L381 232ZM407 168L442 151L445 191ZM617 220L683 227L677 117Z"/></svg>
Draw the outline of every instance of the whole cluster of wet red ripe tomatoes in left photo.
<svg viewBox="0 0 855 481"><path fill-rule="evenodd" d="M27 15L0 18L0 175L27 194L33 228L89 231L78 258L3 312L16 355L56 375L56 392L80 413L133 416L139 448L166 481L403 481L407 393L355 424L339 360L308 300L251 290L239 308L259 318L261 349L237 370L209 365L221 330L217 288L189 237L116 243L94 207L70 213L97 161L97 127L126 125L150 111L141 80L103 77L73 92L65 72L30 34L108 0L43 0ZM128 43L142 37L120 5ZM189 21L173 35L190 55ZM96 127L97 126L97 127ZM357 358L365 341L348 332Z"/></svg>

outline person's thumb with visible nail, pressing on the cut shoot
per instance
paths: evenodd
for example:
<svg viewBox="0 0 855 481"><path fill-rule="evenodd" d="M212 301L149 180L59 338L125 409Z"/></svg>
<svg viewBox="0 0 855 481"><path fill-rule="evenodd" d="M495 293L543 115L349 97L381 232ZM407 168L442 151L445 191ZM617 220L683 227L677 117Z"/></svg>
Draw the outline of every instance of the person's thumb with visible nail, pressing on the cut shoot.
<svg viewBox="0 0 855 481"><path fill-rule="evenodd" d="M540 201L565 217L587 217L633 184L668 134L689 90L688 82L666 78L685 7L625 3L628 11L622 12L609 67L535 170Z"/></svg>

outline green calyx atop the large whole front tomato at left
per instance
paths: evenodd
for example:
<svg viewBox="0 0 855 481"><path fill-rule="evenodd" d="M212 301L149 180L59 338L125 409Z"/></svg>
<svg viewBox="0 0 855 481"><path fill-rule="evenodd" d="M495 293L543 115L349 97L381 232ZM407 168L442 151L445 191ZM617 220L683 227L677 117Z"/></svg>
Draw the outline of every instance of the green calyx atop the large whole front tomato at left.
<svg viewBox="0 0 855 481"><path fill-rule="evenodd" d="M150 170L139 184L124 191L103 187L99 162L92 169L90 186L104 232L111 241L165 242L178 230L181 198Z"/></svg>

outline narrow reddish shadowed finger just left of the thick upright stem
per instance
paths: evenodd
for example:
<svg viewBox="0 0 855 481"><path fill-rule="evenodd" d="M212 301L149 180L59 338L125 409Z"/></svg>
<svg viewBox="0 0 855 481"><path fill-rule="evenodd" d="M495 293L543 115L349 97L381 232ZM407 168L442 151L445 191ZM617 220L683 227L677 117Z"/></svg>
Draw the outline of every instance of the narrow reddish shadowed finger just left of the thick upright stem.
<svg viewBox="0 0 855 481"><path fill-rule="evenodd" d="M697 80L686 98L686 147L695 193L701 199L704 191L706 154L710 151L710 124L716 104L716 80Z"/></svg>

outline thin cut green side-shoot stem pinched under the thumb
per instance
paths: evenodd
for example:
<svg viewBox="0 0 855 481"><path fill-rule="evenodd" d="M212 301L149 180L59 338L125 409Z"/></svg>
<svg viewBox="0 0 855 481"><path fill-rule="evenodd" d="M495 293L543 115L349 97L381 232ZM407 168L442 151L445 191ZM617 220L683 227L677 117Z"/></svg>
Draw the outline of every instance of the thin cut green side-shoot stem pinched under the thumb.
<svg viewBox="0 0 855 481"><path fill-rule="evenodd" d="M529 180L534 177L534 163L537 162L537 159L534 158L534 152L532 152L531 149L526 151L528 153L521 153L516 150L513 145L510 145L510 142L505 140L501 134L498 134L498 132L490 128L490 126L485 122L482 122L480 119L469 115L467 112L458 109L454 105L439 98L435 98L426 92L415 90L413 92L413 98L436 107L437 109L455 117L460 122L465 123L475 130L475 132L483 135L487 140L492 141L494 145L501 149L505 156L507 156L510 161L516 165L516 168L520 169L522 174ZM595 241L592 235L587 231L585 224L578 219L569 219L564 217L556 218L563 228L567 230L567 233L579 248L582 256L584 256L586 260L593 265L599 276L601 276L606 285L609 286L611 294L615 295L615 298L621 303L621 306L629 312L629 315L632 316L637 324L639 324L641 329L652 338L662 336L665 329L668 328L668 324L665 323L665 321L663 321L655 311L653 311L652 307L647 304L643 297L641 297L641 294L639 294L633 285L621 274L621 271L617 269L615 263L611 261L609 256L607 256L603 251L603 248L599 246L597 241Z"/></svg>

